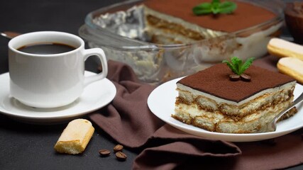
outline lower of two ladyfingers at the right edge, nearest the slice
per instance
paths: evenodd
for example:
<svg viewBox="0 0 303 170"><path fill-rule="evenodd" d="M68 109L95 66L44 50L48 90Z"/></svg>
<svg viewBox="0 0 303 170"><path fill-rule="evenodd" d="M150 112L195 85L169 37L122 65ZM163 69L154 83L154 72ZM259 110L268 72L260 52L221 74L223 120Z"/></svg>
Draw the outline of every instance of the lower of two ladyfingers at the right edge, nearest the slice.
<svg viewBox="0 0 303 170"><path fill-rule="evenodd" d="M290 77L303 84L303 61L295 57L283 57L277 62L277 69L283 74L287 74Z"/></svg>

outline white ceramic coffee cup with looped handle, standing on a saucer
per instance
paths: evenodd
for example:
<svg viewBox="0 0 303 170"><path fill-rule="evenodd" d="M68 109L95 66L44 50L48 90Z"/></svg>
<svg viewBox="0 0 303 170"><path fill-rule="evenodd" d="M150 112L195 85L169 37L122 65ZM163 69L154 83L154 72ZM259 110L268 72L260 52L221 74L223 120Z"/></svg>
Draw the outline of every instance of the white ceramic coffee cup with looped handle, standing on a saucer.
<svg viewBox="0 0 303 170"><path fill-rule="evenodd" d="M75 50L50 55L18 50L25 45L45 42L70 45ZM92 55L101 60L102 72L84 77L84 62ZM85 50L84 41L70 33L33 32L18 35L9 41L10 94L27 106L66 106L81 96L85 86L104 79L107 71L104 51L100 48Z"/></svg>

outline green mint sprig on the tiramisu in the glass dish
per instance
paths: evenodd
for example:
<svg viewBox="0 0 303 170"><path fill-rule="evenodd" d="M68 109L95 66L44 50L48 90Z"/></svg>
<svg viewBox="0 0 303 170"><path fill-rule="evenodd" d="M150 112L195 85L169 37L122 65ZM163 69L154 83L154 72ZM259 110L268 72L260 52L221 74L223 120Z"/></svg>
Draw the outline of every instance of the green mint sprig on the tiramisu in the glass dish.
<svg viewBox="0 0 303 170"><path fill-rule="evenodd" d="M211 3L204 2L192 8L195 15L205 15L209 13L232 13L237 8L237 4L232 1L220 2L220 0L213 0Z"/></svg>

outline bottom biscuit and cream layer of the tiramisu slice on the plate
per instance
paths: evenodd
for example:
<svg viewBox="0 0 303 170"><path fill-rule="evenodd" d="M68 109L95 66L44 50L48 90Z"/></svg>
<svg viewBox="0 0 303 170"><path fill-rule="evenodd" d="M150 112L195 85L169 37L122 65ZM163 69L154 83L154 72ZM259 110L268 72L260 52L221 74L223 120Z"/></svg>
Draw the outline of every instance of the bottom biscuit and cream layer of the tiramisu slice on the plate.
<svg viewBox="0 0 303 170"><path fill-rule="evenodd" d="M288 101L246 115L238 121L218 111L201 111L197 105L187 105L183 103L180 103L175 108L175 114L172 115L172 117L181 120L183 123L192 124L209 131L225 133L255 132L260 129L261 125L268 123L275 115L290 106L292 99L293 98L290 98ZM294 112L290 113L290 115L293 113Z"/></svg>

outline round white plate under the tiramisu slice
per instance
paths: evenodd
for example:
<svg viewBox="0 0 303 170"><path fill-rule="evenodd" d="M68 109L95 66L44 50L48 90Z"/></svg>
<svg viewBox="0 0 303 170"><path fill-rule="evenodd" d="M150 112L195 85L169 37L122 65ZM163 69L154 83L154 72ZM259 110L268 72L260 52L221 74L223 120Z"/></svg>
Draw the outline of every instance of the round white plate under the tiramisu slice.
<svg viewBox="0 0 303 170"><path fill-rule="evenodd" d="M275 132L265 133L251 133L251 134L227 134L220 132L209 132L201 128L194 127L193 125L187 125L175 120L171 115L175 112L175 98L177 97L176 82L179 79L173 79L167 81L164 84L158 86L150 96L148 96L148 107L158 118L172 125L173 127L180 129L184 132L188 132L192 135L200 137L206 137L210 140L225 140L228 142L253 142L259 140L268 140L274 137L286 135L294 130L298 130L303 127L303 110L302 105L297 106L298 113L287 120L282 120L277 123L277 130ZM299 94L303 92L303 86L296 85L294 90L294 98L297 98Z"/></svg>

